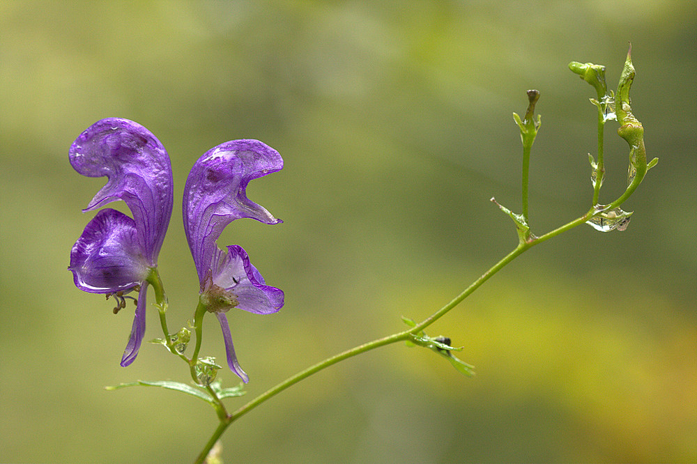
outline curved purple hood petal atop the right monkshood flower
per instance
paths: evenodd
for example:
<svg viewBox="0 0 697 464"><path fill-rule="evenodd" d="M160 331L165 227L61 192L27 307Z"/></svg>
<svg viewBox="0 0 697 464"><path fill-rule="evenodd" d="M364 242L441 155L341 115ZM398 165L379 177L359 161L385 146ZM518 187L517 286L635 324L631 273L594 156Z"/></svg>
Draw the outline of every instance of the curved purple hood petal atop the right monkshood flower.
<svg viewBox="0 0 697 464"><path fill-rule="evenodd" d="M235 219L266 224L276 219L250 199L250 180L279 171L281 155L258 140L233 140L211 148L192 167L184 187L184 230L201 284L218 248L215 241Z"/></svg>

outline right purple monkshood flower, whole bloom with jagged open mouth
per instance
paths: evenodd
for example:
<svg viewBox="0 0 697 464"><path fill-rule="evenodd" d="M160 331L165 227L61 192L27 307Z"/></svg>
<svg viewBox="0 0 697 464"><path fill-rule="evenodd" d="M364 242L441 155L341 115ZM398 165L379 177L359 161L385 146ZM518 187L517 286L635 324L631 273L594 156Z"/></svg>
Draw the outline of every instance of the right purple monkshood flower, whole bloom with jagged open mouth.
<svg viewBox="0 0 697 464"><path fill-rule="evenodd" d="M244 382L249 377L237 361L225 313L232 308L275 313L283 306L284 294L264 283L242 247L232 245L224 251L215 242L225 226L241 217L265 224L282 222L247 199L246 193L250 180L282 167L281 155L270 146L258 140L233 140L204 153L184 187L184 230L201 284L199 307L217 316L227 364Z"/></svg>

